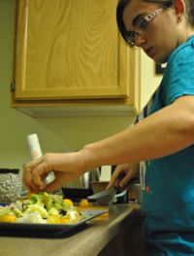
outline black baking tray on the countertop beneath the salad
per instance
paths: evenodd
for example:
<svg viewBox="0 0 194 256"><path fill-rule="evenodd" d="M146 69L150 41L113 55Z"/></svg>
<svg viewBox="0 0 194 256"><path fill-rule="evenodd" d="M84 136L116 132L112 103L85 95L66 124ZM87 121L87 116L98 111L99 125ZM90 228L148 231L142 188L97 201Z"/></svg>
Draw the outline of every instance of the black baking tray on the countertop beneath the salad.
<svg viewBox="0 0 194 256"><path fill-rule="evenodd" d="M89 216L75 224L32 224L32 223L0 223L1 237L24 238L64 238L80 232L91 219L108 212L104 209L81 210Z"/></svg>

